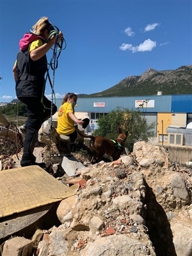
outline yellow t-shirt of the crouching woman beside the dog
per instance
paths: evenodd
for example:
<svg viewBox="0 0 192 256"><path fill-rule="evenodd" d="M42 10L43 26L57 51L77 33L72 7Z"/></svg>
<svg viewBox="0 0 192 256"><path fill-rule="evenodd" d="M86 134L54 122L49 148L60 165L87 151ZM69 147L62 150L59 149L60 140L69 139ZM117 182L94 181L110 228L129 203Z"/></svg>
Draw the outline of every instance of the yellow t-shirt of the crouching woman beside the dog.
<svg viewBox="0 0 192 256"><path fill-rule="evenodd" d="M70 102L65 102L58 111L58 127L56 129L58 134L68 135L76 130L74 121L67 115L68 113L74 114L74 108Z"/></svg>

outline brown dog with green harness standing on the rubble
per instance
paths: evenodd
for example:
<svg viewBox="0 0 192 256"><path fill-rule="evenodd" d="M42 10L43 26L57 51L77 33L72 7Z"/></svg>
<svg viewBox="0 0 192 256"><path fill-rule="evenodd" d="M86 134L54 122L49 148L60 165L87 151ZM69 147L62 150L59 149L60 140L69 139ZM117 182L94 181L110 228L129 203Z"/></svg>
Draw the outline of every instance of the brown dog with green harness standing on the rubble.
<svg viewBox="0 0 192 256"><path fill-rule="evenodd" d="M90 138L90 150L93 153L92 164L99 163L104 154L111 156L113 161L117 160L124 151L125 140L127 138L128 131L122 133L121 129L118 129L118 138L116 140L109 140L103 136L92 136L83 134L81 131L77 131L79 135L84 138Z"/></svg>

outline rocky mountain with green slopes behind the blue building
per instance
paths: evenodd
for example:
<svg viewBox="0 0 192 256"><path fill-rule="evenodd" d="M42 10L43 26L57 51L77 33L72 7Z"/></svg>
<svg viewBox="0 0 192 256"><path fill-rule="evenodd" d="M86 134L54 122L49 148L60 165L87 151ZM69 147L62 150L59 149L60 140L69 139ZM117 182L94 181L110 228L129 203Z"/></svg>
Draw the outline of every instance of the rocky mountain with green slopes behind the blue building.
<svg viewBox="0 0 192 256"><path fill-rule="evenodd" d="M126 77L108 90L86 97L156 95L158 91L163 92L163 95L191 94L191 89L192 65L186 65L176 70L157 71L148 68L141 76Z"/></svg>

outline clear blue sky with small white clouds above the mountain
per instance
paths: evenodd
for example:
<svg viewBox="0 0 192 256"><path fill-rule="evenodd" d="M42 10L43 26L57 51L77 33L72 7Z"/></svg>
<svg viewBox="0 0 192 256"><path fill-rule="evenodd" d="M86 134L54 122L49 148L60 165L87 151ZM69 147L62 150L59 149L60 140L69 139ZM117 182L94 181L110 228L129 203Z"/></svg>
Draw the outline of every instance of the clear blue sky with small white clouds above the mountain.
<svg viewBox="0 0 192 256"><path fill-rule="evenodd" d="M67 92L101 92L148 68L191 65L191 13L191 0L0 0L0 102L16 97L19 40L40 17L49 17L67 42L54 78L61 99Z"/></svg>

